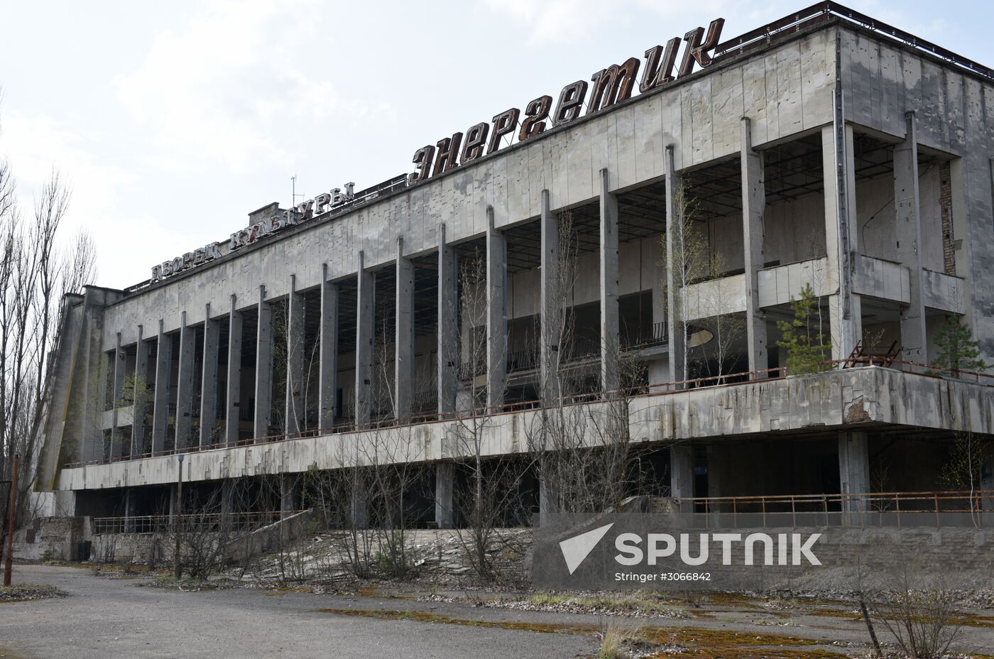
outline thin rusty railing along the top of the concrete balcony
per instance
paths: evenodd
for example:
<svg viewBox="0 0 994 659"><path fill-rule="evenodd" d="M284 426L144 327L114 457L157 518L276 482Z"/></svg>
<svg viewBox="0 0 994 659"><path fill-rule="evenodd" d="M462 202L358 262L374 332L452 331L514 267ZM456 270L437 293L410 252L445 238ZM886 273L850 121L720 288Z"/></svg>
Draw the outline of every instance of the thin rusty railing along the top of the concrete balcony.
<svg viewBox="0 0 994 659"><path fill-rule="evenodd" d="M830 373L836 369L840 370L851 370L851 369L861 369L861 368L880 368L891 371L901 371L904 373L911 373L918 376L925 376L930 378L935 378L936 380L943 380L951 378L955 381L965 381L971 384L977 384L983 387L994 387L994 375L988 373L979 373L976 371L964 371L949 369L947 367L920 364L917 362L908 362L902 360L887 360L886 364L882 363L882 360L874 355L867 355L865 357L858 358L847 358L842 360L826 360L821 362L819 365L820 371L812 376L817 376L819 374ZM701 378L690 378L687 380L681 380L677 382L662 382L662 383L647 383L642 384L637 387L631 387L621 391L615 392L584 392L576 395L570 395L563 397L562 401L554 402L554 405L562 404L564 406L571 405L585 405L599 400L609 400L616 399L619 397L639 399L647 397L656 396L668 396L679 394L682 392L687 392L694 389L703 388L715 388L715 387L738 387L741 385L746 385L753 382L771 382L774 380L782 380L788 376L786 367L776 368L776 369L761 369L757 371L744 371L739 373L723 374L720 376L705 376ZM460 418L470 418L473 416L479 416L483 414L500 414L500 413L514 413L521 412L523 410L530 410L537 407L537 401L521 401L514 404L502 405L493 408L477 407L472 409L458 410L455 412L449 412L444 414L443 418L437 420L454 420ZM350 413L350 411L352 413ZM372 411L371 411L372 412ZM107 464L112 462L119 462L122 460L132 460L146 457L155 457L161 455L174 455L177 453L192 453L201 450L218 449L218 448L231 448L234 446L245 446L249 444L256 443L266 443L272 441L283 441L288 439L298 439L304 437L315 437L326 434L339 434L343 432L356 432L360 430L370 429L373 427L404 427L409 425L417 425L425 422L425 414L423 411L417 411L407 417L395 418L372 418L370 422L361 424L358 423L354 416L354 410L350 408L350 404L346 404L344 415L349 416L343 419L341 422L323 427L314 427L307 430L302 430L300 432L290 432L285 434L273 434L263 437L253 437L249 439L242 439L236 442L220 442L217 444L211 444L207 446L185 446L178 449L166 449L162 451L155 451L150 453L134 454L134 455L124 455L113 458L102 458L97 460L90 460L86 462L71 462L65 466L65 468L80 467L88 464Z"/></svg>

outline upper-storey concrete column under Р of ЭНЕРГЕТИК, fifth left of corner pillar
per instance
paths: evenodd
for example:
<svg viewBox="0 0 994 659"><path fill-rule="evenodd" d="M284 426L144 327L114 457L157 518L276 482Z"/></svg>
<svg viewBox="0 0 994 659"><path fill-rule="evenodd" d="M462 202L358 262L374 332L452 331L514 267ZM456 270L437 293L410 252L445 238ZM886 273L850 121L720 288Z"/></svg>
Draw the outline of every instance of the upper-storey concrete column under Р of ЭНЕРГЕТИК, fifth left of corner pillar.
<svg viewBox="0 0 994 659"><path fill-rule="evenodd" d="M504 405L507 388L507 242L487 207L487 406Z"/></svg>

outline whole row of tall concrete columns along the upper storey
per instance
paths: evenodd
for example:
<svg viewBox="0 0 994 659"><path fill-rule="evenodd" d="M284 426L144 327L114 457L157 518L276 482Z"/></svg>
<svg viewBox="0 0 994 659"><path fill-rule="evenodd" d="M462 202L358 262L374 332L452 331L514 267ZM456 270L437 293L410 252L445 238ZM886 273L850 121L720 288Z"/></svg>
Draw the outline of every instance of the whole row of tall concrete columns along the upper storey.
<svg viewBox="0 0 994 659"><path fill-rule="evenodd" d="M823 159L825 171L825 218L826 243L830 268L839 281L838 290L829 297L830 320L832 325L833 353L843 358L855 347L861 330L859 295L852 292L853 259L858 254L856 245L854 201L854 163L852 127L844 122L836 122L823 129ZM748 334L748 364L752 371L761 371L767 366L766 320L758 304L758 271L763 266L762 235L763 209L765 205L763 185L763 163L759 153L752 148L750 124L742 120L742 199L743 232L745 243L745 307L746 332ZM914 134L914 116L908 116L908 136L895 151L895 190L898 206L899 250L903 262L911 269L911 305L902 313L902 341L906 357L921 361L924 356L924 312L921 306L921 269L918 255L920 243L920 223L918 221L917 191L917 150ZM679 186L681 175L674 168L672 147L665 149L666 203L667 217L677 218ZM600 379L604 391L618 387L617 341L618 341L618 205L617 198L609 189L608 172L600 171L599 176L599 284L600 284L600 334L601 360ZM559 222L550 210L548 191L542 193L540 217L541 262L540 262L540 308L542 310L542 341L540 342L541 395L549 400L560 392L555 391L556 379L550 377L557 368L559 350L554 337L553 319L558 310L559 296ZM446 243L445 227L438 231L438 322L437 322L437 389L439 414L453 412L456 407L458 314L457 314L457 256L455 247ZM670 242L672 232L667 232L668 253L673 253ZM503 232L494 226L493 211L488 209L488 222L485 235L486 254L486 303L485 314L487 335L487 405L498 409L503 404L507 381L507 244ZM396 244L396 340L395 340L395 383L394 412L399 418L410 415L414 399L414 263L405 250L403 238ZM373 411L374 380L374 322L375 322L375 273L366 268L363 252L359 254L357 275L356 307L356 369L355 369L355 414L356 423L362 427L371 420ZM667 276L668 305L675 308L673 296L677 286L673 280L673 268L664 266ZM320 329L318 367L318 425L330 428L336 414L335 401L338 355L338 313L339 294L335 282L327 280L327 266L324 266L320 290ZM257 309L258 324L256 335L256 368L254 382L255 410L253 416L253 436L264 437L269 433L272 380L272 310L265 298L264 286L259 286L258 298L253 305ZM241 401L241 365L243 311L239 300L233 295L231 309L227 310L229 323L228 346L228 388L226 401L222 405L226 418L223 438L228 442L238 439L239 405ZM287 387L285 427L287 434L305 428L304 382L308 363L304 345L304 297L296 287L296 278L291 275L290 294L287 304ZM200 417L202 419L199 437L192 436L194 404L194 365L196 332L186 322L183 313L179 331L178 356L178 395L175 411L175 438L177 447L209 445L214 441L215 424L219 402L217 388L209 383L217 381L218 349L220 325L223 320L213 318L210 305L206 310L202 346L202 387ZM669 324L669 379L682 381L686 377L685 337L677 326L677 320L667 318ZM148 348L145 343L144 328L138 328L139 341L136 355L136 369L144 373L147 368ZM172 377L173 341L158 328L158 352L155 365L155 396L152 413L152 450L161 451L165 446L166 427L169 421L169 383ZM118 344L115 352L114 400L124 381L123 351ZM117 433L116 410L113 432ZM146 433L142 414L136 414L132 424L132 452L140 448L140 441ZM123 442L114 442L115 445Z"/></svg>

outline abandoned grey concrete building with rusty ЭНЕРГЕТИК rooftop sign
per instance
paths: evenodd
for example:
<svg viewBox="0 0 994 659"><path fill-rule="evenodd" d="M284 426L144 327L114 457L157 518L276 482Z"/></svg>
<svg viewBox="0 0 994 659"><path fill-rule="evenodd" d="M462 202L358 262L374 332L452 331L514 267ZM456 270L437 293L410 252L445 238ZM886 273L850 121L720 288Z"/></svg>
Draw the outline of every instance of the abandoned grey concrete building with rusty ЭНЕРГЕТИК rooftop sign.
<svg viewBox="0 0 994 659"><path fill-rule="evenodd" d="M531 523L559 505L526 455L536 416L621 390L657 496L943 489L956 438L994 432L994 376L930 366L950 317L994 362L994 72L833 3L721 30L69 296L51 513L168 515L179 469L202 492L283 483L294 510L288 476L364 464L390 429L423 481L414 523L450 526L452 436L482 414L486 456L531 471ZM704 266L681 277L683 225ZM777 321L807 285L830 352L792 375Z"/></svg>

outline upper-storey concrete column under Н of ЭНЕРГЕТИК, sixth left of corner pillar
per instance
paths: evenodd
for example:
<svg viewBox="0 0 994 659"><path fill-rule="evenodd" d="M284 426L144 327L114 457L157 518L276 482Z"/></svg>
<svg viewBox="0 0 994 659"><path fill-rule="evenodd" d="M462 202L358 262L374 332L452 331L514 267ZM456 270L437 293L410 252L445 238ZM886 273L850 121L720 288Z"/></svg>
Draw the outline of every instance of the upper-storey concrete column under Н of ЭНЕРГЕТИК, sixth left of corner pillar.
<svg viewBox="0 0 994 659"><path fill-rule="evenodd" d="M455 412L459 377L459 277L455 247L438 226L438 415Z"/></svg>

